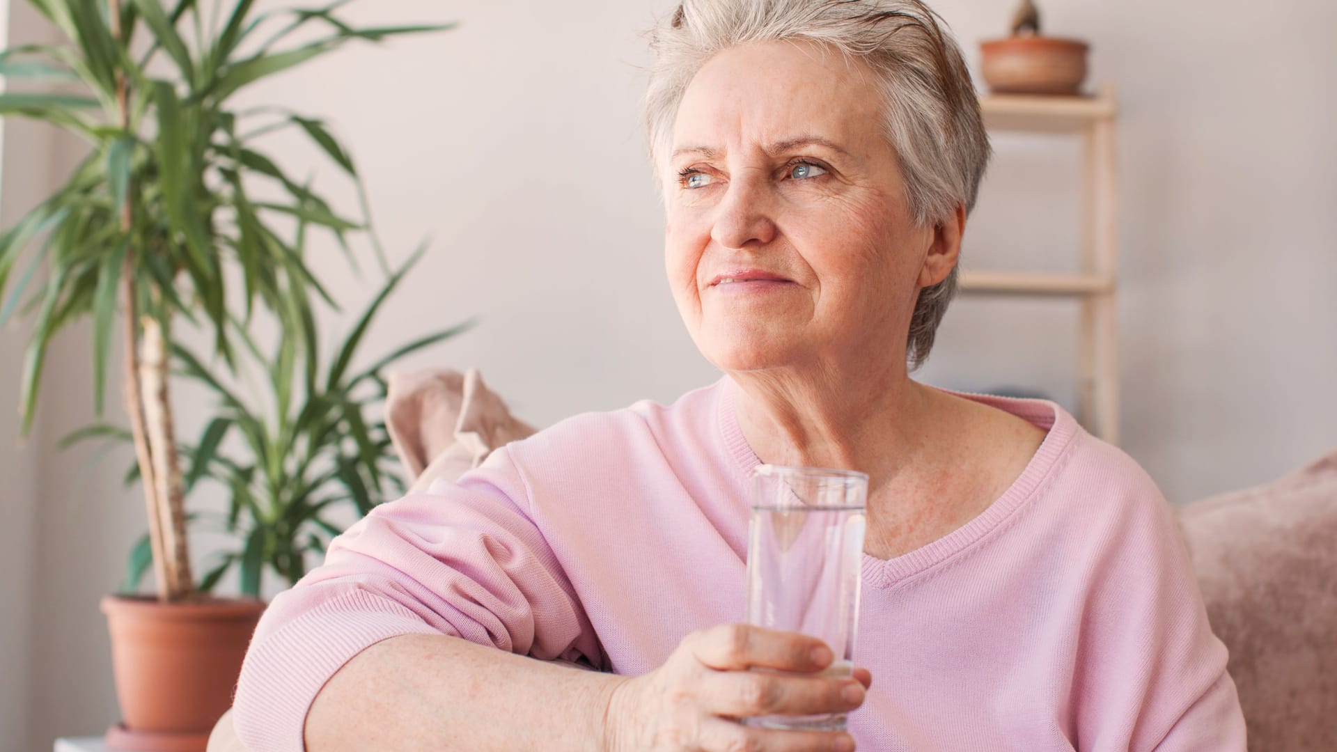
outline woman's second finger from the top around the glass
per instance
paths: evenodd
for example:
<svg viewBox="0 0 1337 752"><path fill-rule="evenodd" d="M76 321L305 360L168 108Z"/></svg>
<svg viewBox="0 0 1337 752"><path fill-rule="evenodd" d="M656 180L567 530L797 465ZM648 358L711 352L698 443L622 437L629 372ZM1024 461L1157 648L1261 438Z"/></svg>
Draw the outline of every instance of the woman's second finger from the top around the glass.
<svg viewBox="0 0 1337 752"><path fill-rule="evenodd" d="M743 719L848 713L864 702L864 685L850 677L750 670L707 672L697 697L717 716Z"/></svg>

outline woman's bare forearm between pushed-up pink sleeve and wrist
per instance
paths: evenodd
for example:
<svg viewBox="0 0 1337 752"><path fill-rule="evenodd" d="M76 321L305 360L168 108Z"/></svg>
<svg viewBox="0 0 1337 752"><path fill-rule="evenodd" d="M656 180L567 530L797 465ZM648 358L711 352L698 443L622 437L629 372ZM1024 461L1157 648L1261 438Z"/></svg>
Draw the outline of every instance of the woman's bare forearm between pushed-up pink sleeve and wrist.
<svg viewBox="0 0 1337 752"><path fill-rule="evenodd" d="M608 697L624 680L405 634L330 677L306 716L306 749L603 752Z"/></svg>

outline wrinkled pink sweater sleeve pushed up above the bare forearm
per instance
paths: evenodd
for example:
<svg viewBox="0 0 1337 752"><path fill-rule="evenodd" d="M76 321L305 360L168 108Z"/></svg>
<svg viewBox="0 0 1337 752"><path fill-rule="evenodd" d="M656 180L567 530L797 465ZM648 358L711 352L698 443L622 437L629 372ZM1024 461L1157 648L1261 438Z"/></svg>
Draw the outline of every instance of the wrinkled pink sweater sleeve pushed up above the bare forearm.
<svg viewBox="0 0 1337 752"><path fill-rule="evenodd" d="M382 504L265 612L234 704L253 752L303 749L316 694L400 634L448 634L543 660L599 664L570 581L529 514L505 450L457 483Z"/></svg>

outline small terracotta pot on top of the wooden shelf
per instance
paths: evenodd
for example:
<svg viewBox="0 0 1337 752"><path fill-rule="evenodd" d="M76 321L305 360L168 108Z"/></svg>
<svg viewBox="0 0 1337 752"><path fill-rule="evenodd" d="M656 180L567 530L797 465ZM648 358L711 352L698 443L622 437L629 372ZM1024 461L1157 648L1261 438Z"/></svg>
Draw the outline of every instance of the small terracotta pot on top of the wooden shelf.
<svg viewBox="0 0 1337 752"><path fill-rule="evenodd" d="M1087 43L1011 36L980 43L980 70L995 94L1075 95L1087 74Z"/></svg>

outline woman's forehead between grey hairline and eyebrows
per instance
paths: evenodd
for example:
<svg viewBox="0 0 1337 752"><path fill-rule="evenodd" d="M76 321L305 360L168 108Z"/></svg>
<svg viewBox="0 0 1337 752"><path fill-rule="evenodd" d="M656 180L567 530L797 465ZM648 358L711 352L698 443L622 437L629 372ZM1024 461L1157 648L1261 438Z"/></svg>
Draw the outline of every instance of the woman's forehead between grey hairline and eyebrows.
<svg viewBox="0 0 1337 752"><path fill-rule="evenodd" d="M733 47L711 58L689 84L671 153L775 151L801 142L862 150L881 132L880 104L868 68L826 47Z"/></svg>

